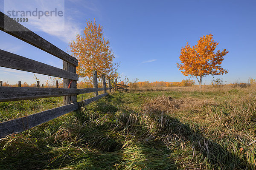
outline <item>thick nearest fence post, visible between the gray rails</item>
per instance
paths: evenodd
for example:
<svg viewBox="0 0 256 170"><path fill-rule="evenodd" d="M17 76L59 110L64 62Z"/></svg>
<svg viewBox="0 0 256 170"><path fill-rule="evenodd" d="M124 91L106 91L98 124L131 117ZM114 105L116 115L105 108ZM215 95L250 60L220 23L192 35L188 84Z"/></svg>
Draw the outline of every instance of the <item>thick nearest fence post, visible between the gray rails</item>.
<svg viewBox="0 0 256 170"><path fill-rule="evenodd" d="M76 74L76 66L63 61L63 70ZM63 79L63 88L76 88L76 81L71 79ZM76 102L76 95L64 96L64 105Z"/></svg>

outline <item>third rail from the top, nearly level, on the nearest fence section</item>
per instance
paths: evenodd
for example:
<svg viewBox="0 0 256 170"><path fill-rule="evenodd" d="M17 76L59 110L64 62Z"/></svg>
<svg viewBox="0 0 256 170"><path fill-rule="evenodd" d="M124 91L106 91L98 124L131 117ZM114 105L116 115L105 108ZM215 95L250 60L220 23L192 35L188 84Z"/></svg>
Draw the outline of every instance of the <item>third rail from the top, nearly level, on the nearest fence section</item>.
<svg viewBox="0 0 256 170"><path fill-rule="evenodd" d="M0 87L0 102L77 95L77 89Z"/></svg>

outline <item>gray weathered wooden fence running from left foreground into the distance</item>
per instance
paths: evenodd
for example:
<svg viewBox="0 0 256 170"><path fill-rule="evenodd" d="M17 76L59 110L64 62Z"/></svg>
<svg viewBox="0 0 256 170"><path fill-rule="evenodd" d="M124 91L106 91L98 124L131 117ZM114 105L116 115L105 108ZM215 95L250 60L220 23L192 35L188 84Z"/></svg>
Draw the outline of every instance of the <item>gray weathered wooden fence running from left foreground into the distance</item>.
<svg viewBox="0 0 256 170"><path fill-rule="evenodd" d="M20 31L9 31L13 27ZM64 96L64 105L61 107L5 122L0 122L0 137L5 137L12 133L22 132L23 130L28 130L31 127L35 127L44 122L55 119L58 116L64 115L71 111L76 111L81 107L81 105L87 105L104 96L107 96L107 90L111 91L111 80L108 80L109 87L106 88L105 75L102 75L103 88L98 88L96 71L93 72L94 88L77 89L76 81L78 81L78 75L76 74L76 66L78 66L78 60L57 48L55 45L52 45L50 42L38 36L26 27L12 20L2 12L0 12L0 30L5 31L7 34L23 40L24 42L27 42L63 60L63 69L60 69L42 62L0 50L1 67L63 78L63 88L3 87L3 82L1 81L0 102ZM18 84L20 86L20 82ZM39 82L37 84L39 85ZM98 91L104 91L104 94L98 95ZM91 92L95 93L94 97L77 102L77 95Z"/></svg>

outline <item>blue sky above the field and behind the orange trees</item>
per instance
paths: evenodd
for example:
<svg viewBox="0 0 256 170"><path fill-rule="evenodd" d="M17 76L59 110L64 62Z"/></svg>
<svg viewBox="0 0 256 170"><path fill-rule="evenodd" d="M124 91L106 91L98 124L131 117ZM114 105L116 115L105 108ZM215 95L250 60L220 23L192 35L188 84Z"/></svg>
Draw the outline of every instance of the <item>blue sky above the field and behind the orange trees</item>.
<svg viewBox="0 0 256 170"><path fill-rule="evenodd" d="M0 0L4 11L4 0ZM81 34L87 20L104 28L105 38L120 62L122 79L180 82L177 68L180 49L195 45L200 37L213 34L217 50L226 48L222 67L229 73L215 76L224 83L247 82L256 78L256 1L238 0L65 0L65 31L36 31L64 51L76 33ZM47 23L45 23L47 25ZM58 59L15 37L0 32L0 49L49 65L62 67ZM32 73L0 68L4 82L32 83ZM38 75L38 74L37 74ZM47 76L38 75L40 81ZM196 81L195 78L192 78ZM203 84L212 76L204 77Z"/></svg>

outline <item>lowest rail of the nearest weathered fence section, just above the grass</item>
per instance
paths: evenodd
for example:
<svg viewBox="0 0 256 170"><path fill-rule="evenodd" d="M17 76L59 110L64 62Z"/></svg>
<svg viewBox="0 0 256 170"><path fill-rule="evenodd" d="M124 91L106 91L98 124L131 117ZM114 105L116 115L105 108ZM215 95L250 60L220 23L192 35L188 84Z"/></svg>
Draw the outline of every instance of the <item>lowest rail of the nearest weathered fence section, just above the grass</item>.
<svg viewBox="0 0 256 170"><path fill-rule="evenodd" d="M9 134L22 132L37 125L41 125L44 122L48 122L49 120L57 118L58 116L64 115L71 111L75 111L78 109L78 107L79 103L72 103L40 113L35 113L29 116L1 122L0 137L5 137Z"/></svg>

